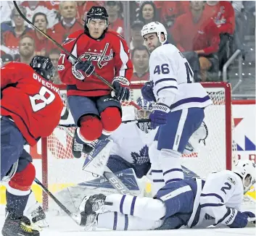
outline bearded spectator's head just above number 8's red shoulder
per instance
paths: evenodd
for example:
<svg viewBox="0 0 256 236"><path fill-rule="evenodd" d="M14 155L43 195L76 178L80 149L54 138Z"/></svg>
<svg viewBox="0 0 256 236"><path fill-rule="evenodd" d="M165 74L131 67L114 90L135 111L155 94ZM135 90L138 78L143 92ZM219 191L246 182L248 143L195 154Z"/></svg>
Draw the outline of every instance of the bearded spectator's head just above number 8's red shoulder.
<svg viewBox="0 0 256 236"><path fill-rule="evenodd" d="M29 35L23 35L20 38L20 59L17 62L30 64L33 56L35 56L35 41Z"/></svg>

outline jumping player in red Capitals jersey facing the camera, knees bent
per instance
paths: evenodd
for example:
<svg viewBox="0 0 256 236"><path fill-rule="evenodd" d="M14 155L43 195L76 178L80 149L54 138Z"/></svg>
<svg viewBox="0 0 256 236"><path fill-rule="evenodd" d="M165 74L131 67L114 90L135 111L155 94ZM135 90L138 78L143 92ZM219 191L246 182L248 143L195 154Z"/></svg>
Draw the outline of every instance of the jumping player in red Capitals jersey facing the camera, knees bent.
<svg viewBox="0 0 256 236"><path fill-rule="evenodd" d="M67 101L78 129L73 140L73 155L89 153L99 140L105 140L121 124L120 101L128 100L133 65L124 38L108 31L104 7L91 7L85 30L69 35L63 43L67 51L82 62L75 62L65 52L59 57L59 77L67 85ZM104 77L115 88L93 75Z"/></svg>

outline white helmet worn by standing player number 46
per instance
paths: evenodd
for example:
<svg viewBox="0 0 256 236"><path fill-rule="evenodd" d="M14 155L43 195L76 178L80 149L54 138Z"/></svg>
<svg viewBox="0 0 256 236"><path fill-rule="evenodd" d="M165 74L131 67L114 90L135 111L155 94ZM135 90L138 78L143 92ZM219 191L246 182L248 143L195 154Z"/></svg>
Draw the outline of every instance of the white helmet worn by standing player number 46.
<svg viewBox="0 0 256 236"><path fill-rule="evenodd" d="M157 37L159 38L160 43L164 44L167 41L167 31L165 26L160 22L150 22L149 24L144 25L141 30L141 36L144 38L144 35L149 33L157 33ZM165 35L165 40L161 42L161 33Z"/></svg>

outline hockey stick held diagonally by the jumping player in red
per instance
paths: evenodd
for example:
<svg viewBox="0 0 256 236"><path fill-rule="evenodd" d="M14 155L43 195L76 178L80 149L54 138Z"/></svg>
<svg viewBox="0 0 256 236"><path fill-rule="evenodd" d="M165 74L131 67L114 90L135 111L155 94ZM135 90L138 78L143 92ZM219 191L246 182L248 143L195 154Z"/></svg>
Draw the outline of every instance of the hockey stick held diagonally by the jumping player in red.
<svg viewBox="0 0 256 236"><path fill-rule="evenodd" d="M65 53L72 57L76 62L80 62L80 60L75 57L73 54L70 53L70 51L67 51L64 47L62 47L57 41L54 41L53 38L51 38L49 35L47 35L46 33L44 33L43 31L39 30L36 25L33 25L32 22L30 22L30 20L28 20L24 14L22 14L22 12L20 11L20 8L17 6L16 1L13 1L13 4L15 4L15 8L17 9L17 12L19 12L20 16L26 21L28 22L29 25L31 25L34 29L38 30L38 32L40 32L41 34L43 34L46 38L49 39L49 41L51 41L52 43L55 43L55 45L57 45L59 47L59 49L62 49L62 51L65 51ZM107 81L104 79L104 77L98 75L96 72L92 73L93 75L95 75L99 80L102 80L103 83L105 83L107 86L109 86L110 88L112 88L112 90L115 91L115 88Z"/></svg>

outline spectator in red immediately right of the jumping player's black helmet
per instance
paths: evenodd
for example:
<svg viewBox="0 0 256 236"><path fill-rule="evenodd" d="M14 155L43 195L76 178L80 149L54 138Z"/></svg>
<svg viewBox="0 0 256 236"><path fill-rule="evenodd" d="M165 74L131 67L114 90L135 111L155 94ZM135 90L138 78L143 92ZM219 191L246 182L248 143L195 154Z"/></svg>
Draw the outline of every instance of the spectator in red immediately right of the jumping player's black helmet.
<svg viewBox="0 0 256 236"><path fill-rule="evenodd" d="M115 31L117 33L123 34L123 18L121 17L121 7L120 1L105 1L105 7L107 14L109 15L109 30ZM123 8L122 8L123 9Z"/></svg>

